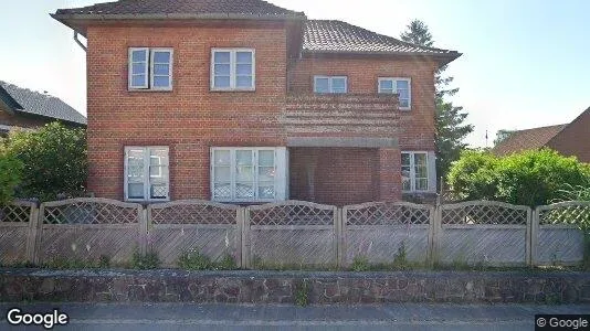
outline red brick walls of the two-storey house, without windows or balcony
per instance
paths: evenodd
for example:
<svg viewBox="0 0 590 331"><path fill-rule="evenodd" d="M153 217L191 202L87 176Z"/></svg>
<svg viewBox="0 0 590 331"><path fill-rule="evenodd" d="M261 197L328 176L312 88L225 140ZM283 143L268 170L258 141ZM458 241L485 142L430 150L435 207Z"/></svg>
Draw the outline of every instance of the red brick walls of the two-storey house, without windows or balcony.
<svg viewBox="0 0 590 331"><path fill-rule="evenodd" d="M241 24L241 23L235 23ZM287 93L312 93L314 74L347 75L350 93L376 93L378 76L412 78L412 110L399 111L401 150L433 150L434 63L422 60L304 58L287 68L283 25L89 26L87 30L88 189L123 199L124 147L168 146L170 197L209 199L209 149L222 146L286 146L281 122ZM128 47L173 47L172 92L128 92ZM210 92L212 47L256 51L255 92ZM397 120L397 119L396 119ZM362 134L362 132L361 132ZM349 136L346 131L334 136ZM370 134L365 132L369 136ZM382 135L381 135L382 137ZM360 158L349 158L358 156ZM399 149L349 149L318 154L320 178L331 177L315 201L355 203L399 200ZM291 154L292 169L314 154ZM334 166L334 162L341 167ZM327 169L327 170L326 170ZM305 199L299 174L292 197ZM343 182L347 185L343 191ZM335 184L337 183L337 184ZM389 185L389 186L388 186ZM355 189L355 190L352 190Z"/></svg>

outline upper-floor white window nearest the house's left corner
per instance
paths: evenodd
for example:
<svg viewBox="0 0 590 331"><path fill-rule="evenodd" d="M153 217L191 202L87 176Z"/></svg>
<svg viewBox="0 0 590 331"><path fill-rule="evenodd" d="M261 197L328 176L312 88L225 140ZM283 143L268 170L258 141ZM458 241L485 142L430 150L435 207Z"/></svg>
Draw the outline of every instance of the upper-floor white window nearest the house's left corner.
<svg viewBox="0 0 590 331"><path fill-rule="evenodd" d="M129 89L172 89L172 49L129 49Z"/></svg>

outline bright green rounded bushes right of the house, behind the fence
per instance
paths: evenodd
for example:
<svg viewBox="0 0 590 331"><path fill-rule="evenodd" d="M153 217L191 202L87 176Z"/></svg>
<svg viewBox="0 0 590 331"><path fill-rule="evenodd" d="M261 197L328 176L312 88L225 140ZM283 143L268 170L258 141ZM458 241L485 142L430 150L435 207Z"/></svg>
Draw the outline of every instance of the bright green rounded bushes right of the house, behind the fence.
<svg viewBox="0 0 590 331"><path fill-rule="evenodd" d="M449 184L462 200L497 200L541 205L563 197L572 185L590 185L590 166L550 149L504 158L465 151L449 172Z"/></svg>

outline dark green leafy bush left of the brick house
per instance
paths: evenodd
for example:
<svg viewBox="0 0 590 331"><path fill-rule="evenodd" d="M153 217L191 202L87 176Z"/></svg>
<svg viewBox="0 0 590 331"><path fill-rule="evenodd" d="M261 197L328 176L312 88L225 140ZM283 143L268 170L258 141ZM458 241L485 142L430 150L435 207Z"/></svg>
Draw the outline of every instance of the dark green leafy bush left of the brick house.
<svg viewBox="0 0 590 331"><path fill-rule="evenodd" d="M85 190L87 177L86 131L59 122L36 131L11 132L7 153L23 164L18 197L55 200L76 196Z"/></svg>

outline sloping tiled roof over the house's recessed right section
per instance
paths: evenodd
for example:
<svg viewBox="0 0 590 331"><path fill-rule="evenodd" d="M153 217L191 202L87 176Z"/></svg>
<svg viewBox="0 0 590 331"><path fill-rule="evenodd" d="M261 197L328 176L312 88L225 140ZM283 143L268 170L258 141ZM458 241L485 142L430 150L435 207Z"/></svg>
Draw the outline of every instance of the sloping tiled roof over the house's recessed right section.
<svg viewBox="0 0 590 331"><path fill-rule="evenodd" d="M305 22L303 51L307 53L423 54L461 56L456 51L425 47L382 35L347 22L308 20Z"/></svg>

